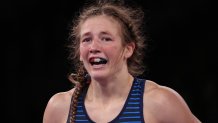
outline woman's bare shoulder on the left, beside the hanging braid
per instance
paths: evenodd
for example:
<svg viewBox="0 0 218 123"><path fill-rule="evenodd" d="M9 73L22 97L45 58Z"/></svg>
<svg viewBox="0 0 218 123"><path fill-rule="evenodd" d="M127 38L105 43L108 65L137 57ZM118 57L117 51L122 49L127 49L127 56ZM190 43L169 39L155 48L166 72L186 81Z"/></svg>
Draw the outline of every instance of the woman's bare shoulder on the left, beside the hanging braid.
<svg viewBox="0 0 218 123"><path fill-rule="evenodd" d="M74 89L54 94L44 111L43 123L66 122Z"/></svg>

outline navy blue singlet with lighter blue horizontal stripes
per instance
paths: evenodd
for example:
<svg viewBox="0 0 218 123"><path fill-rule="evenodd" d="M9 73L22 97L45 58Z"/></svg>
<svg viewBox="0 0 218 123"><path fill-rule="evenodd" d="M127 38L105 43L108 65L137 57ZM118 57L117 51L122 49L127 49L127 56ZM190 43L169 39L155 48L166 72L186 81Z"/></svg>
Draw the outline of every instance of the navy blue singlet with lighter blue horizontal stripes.
<svg viewBox="0 0 218 123"><path fill-rule="evenodd" d="M143 117L143 93L144 93L144 79L134 78L131 90L127 97L119 115L109 123L144 123ZM85 109L84 98L86 91L82 93L78 99L77 114L75 123L94 123ZM70 123L70 116L68 115L67 123Z"/></svg>

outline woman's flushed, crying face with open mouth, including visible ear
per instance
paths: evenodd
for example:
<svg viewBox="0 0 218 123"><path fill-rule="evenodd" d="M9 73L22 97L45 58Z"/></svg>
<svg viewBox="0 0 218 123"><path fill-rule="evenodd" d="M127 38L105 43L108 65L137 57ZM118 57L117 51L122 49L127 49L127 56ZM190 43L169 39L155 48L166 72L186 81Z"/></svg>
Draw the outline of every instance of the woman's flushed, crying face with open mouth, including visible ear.
<svg viewBox="0 0 218 123"><path fill-rule="evenodd" d="M80 28L80 60L94 79L127 70L134 45L122 45L121 26L111 17L88 18Z"/></svg>

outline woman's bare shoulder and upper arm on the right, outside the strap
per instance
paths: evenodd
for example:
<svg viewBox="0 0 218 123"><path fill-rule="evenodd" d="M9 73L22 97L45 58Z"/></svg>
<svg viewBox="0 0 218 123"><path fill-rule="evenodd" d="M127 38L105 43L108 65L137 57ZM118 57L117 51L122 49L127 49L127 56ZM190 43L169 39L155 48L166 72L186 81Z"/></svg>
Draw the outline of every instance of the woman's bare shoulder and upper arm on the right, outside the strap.
<svg viewBox="0 0 218 123"><path fill-rule="evenodd" d="M179 93L150 80L145 84L144 116L154 122L200 123Z"/></svg>

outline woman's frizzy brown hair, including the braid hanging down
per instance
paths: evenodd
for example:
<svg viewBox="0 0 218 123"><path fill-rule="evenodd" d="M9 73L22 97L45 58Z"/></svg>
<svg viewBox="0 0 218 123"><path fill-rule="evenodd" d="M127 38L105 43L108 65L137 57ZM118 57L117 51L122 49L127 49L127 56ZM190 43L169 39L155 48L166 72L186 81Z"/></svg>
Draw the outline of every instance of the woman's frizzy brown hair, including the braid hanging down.
<svg viewBox="0 0 218 123"><path fill-rule="evenodd" d="M79 13L76 20L73 20L73 26L70 31L69 39L72 41L69 45L69 59L74 62L75 68L78 68L75 76L70 76L75 81L80 82L80 86L76 86L71 105L71 122L75 120L75 112L77 106L77 98L85 86L87 80L83 64L79 61L79 45L80 45L80 27L90 17L105 15L113 18L121 25L121 37L123 46L128 43L135 43L135 49L130 58L127 59L128 71L133 76L141 75L144 72L143 57L145 49L145 37L143 33L143 17L144 13L141 8L133 8L124 4L122 1L101 0L96 3L85 6ZM86 81L85 81L86 80Z"/></svg>

